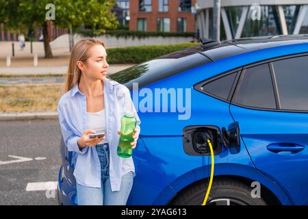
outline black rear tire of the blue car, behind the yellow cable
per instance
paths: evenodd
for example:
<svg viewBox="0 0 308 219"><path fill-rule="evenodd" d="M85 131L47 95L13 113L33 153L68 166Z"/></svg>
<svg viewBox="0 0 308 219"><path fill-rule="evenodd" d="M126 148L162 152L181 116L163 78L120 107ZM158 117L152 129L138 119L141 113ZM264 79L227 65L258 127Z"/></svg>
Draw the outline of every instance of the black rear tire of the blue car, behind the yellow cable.
<svg viewBox="0 0 308 219"><path fill-rule="evenodd" d="M207 181L200 181L185 188L169 205L202 205L207 190ZM248 185L231 179L214 177L207 205L266 205L262 198L253 198Z"/></svg>

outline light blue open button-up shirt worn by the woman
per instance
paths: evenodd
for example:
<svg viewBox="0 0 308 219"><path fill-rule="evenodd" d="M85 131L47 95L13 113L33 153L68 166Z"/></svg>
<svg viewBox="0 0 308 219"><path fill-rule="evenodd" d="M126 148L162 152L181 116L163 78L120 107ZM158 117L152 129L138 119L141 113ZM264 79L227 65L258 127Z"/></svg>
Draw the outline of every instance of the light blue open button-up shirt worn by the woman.
<svg viewBox="0 0 308 219"><path fill-rule="evenodd" d="M122 84L103 79L103 91L106 113L107 139L110 146L110 183L112 191L120 190L121 177L135 167L132 157L122 158L116 153L120 131L120 118L124 115L125 106L130 105L131 111L137 118L137 133L140 133L140 118L131 101L129 89ZM126 105L125 105L126 104ZM74 176L77 183L89 187L101 188L101 164L93 146L79 150L77 140L86 131L86 96L79 91L78 83L63 94L57 105L60 127L64 143L68 151L76 153Z"/></svg>

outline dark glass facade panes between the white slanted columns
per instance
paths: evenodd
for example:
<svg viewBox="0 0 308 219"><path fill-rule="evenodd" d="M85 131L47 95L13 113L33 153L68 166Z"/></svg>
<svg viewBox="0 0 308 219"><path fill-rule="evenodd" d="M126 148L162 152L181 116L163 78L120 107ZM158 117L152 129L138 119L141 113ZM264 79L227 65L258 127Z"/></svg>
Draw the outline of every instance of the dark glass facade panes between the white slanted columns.
<svg viewBox="0 0 308 219"><path fill-rule="evenodd" d="M303 5L282 5L285 14L285 23L287 25L287 33L294 34L296 22L300 8ZM253 36L274 36L283 34L281 20L279 17L278 5L259 5L259 14L255 8L248 7L248 12L244 20L244 27L240 38L253 37ZM240 18L244 7L232 6L224 7L227 15L227 20L231 30L232 38L235 38L236 31L240 25ZM209 38L213 38L213 9L209 8ZM308 10L305 14L303 24L300 27L298 34L308 34ZM227 34L224 29L224 22L220 19L220 40L226 40Z"/></svg>

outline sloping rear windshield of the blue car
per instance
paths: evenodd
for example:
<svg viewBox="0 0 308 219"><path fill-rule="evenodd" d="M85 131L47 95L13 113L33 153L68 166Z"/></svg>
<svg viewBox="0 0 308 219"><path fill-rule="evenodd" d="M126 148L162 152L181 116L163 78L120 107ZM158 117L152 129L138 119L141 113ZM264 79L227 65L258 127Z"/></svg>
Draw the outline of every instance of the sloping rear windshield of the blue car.
<svg viewBox="0 0 308 219"><path fill-rule="evenodd" d="M118 73L110 75L110 79L124 84L131 90L133 83L138 83L139 88L141 88L155 81L209 62L211 60L204 55L184 49L121 70Z"/></svg>

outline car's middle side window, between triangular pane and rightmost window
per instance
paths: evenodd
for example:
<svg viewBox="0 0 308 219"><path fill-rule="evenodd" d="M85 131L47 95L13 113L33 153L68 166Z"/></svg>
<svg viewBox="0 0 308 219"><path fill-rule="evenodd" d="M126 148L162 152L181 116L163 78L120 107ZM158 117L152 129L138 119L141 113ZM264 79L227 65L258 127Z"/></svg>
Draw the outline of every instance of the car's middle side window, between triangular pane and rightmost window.
<svg viewBox="0 0 308 219"><path fill-rule="evenodd" d="M268 64L244 70L232 102L249 107L276 109Z"/></svg>

